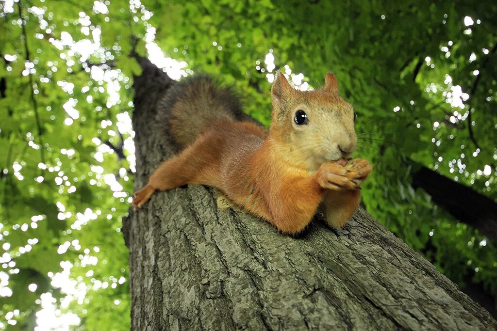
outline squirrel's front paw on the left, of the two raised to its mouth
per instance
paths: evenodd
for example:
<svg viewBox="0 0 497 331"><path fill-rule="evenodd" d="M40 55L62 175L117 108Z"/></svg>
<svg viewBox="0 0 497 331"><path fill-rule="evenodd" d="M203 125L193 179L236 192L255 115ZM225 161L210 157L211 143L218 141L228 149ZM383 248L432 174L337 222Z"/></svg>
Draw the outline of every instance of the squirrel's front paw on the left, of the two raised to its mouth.
<svg viewBox="0 0 497 331"><path fill-rule="evenodd" d="M347 176L348 171L336 162L323 163L317 172L317 180L322 188L343 191L356 190L358 185L353 182L355 178Z"/></svg>

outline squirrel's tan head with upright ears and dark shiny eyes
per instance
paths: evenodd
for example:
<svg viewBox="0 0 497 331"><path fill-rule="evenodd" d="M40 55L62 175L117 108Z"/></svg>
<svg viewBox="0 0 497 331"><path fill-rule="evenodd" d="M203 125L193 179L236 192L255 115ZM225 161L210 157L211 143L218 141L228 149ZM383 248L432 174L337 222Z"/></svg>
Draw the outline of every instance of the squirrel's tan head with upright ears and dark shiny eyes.
<svg viewBox="0 0 497 331"><path fill-rule="evenodd" d="M338 82L331 72L326 74L324 87L299 91L278 71L271 101L271 136L285 148L288 162L312 171L326 161L348 158L354 151L354 109L338 95Z"/></svg>

